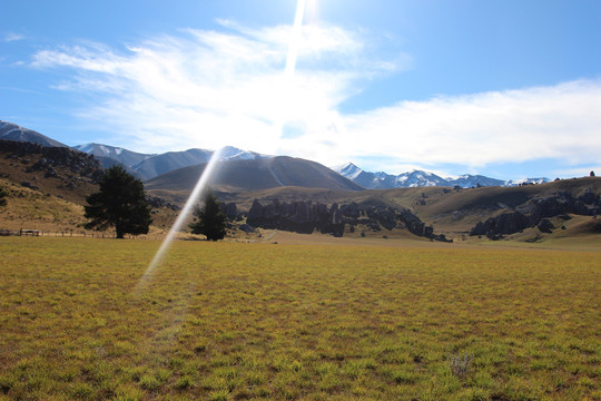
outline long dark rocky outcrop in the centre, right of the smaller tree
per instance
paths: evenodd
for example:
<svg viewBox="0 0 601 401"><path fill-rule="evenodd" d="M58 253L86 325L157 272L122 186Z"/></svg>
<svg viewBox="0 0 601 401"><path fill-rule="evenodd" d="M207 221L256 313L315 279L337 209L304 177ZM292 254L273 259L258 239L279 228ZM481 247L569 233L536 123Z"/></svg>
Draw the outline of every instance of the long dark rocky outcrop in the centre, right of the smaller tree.
<svg viewBox="0 0 601 401"><path fill-rule="evenodd" d="M353 233L357 225L364 225L374 232L383 228L406 228L417 236L433 241L452 242L446 239L444 235L435 235L433 227L426 226L408 209L358 205L354 202L339 206L334 203L328 208L324 204L304 200L287 204L276 199L267 205L255 200L248 212L247 224L254 227L292 231L300 234L318 231L337 237L344 235L345 227L348 227L348 231Z"/></svg>

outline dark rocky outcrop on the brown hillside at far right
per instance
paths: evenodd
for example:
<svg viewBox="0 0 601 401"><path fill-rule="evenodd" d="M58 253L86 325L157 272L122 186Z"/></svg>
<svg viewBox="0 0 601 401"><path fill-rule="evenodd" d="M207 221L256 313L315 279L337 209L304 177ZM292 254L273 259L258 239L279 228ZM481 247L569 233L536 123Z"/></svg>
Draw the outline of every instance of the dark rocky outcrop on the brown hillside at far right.
<svg viewBox="0 0 601 401"><path fill-rule="evenodd" d="M536 196L518 205L513 212L500 214L485 222L479 222L470 235L485 235L499 239L503 235L514 234L529 227L538 227L543 233L554 228L549 217L570 218L568 214L595 216L601 213L601 198L590 188L579 197L570 193L558 192L550 196Z"/></svg>

